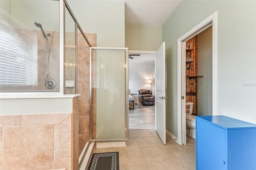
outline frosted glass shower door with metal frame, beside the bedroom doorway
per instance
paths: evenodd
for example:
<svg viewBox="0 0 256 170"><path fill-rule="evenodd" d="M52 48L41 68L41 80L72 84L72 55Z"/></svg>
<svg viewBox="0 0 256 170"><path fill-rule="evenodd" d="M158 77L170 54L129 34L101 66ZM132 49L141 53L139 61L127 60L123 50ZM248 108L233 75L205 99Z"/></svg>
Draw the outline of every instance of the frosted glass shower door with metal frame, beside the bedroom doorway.
<svg viewBox="0 0 256 170"><path fill-rule="evenodd" d="M90 140L127 139L127 48L90 49Z"/></svg>

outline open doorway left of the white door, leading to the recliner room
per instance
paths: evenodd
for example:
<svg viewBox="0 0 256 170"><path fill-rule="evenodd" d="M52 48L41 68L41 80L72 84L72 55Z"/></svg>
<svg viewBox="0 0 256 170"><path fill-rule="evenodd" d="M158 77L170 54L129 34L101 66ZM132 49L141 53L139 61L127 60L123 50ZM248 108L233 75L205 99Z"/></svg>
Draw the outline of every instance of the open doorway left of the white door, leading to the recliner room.
<svg viewBox="0 0 256 170"><path fill-rule="evenodd" d="M149 89L155 95L156 51L128 51L129 129L155 129L155 105L142 105L138 99L140 89ZM130 99L129 99L130 100ZM129 103L130 104L130 103Z"/></svg>

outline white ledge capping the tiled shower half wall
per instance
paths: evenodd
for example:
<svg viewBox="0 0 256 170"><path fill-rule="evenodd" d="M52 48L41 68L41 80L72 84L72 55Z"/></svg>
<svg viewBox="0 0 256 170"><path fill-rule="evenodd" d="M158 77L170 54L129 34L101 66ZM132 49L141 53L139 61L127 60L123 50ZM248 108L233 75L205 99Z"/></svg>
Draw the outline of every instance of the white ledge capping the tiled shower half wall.
<svg viewBox="0 0 256 170"><path fill-rule="evenodd" d="M0 95L0 99L47 99L47 98L74 98L80 96L74 95Z"/></svg>

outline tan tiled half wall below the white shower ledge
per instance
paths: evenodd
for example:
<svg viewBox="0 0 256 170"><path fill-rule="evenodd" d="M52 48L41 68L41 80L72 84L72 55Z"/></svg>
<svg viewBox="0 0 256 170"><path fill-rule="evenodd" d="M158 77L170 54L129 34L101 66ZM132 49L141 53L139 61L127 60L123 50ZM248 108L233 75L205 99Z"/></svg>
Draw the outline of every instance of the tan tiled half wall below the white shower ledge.
<svg viewBox="0 0 256 170"><path fill-rule="evenodd" d="M78 170L78 97L73 113L0 116L0 170Z"/></svg>

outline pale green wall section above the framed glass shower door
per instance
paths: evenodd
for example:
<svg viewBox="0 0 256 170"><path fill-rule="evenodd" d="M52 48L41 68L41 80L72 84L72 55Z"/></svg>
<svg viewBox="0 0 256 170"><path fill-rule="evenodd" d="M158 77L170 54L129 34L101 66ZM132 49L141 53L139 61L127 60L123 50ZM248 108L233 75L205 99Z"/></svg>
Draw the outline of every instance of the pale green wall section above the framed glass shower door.
<svg viewBox="0 0 256 170"><path fill-rule="evenodd" d="M68 0L83 31L97 34L97 47L124 47L124 2Z"/></svg>

